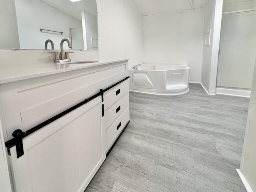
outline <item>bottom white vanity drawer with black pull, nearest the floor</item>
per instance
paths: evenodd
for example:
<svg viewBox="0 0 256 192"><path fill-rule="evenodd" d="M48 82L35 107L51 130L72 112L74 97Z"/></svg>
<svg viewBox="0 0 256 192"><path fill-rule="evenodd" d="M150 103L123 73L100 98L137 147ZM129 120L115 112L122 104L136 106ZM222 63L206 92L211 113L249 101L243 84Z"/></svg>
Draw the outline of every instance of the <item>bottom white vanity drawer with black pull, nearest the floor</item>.
<svg viewBox="0 0 256 192"><path fill-rule="evenodd" d="M122 113L122 115L114 122L114 124L106 130L106 152L110 149L116 138L123 130L126 123L129 121L129 108Z"/></svg>

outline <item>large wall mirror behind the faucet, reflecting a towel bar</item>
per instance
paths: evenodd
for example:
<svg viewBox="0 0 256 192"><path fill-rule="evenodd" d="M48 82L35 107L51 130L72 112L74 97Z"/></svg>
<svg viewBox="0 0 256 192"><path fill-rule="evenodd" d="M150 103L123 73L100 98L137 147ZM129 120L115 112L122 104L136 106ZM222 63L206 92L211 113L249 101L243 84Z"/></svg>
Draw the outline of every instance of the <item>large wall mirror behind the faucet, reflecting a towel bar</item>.
<svg viewBox="0 0 256 192"><path fill-rule="evenodd" d="M44 50L50 39L60 50L63 38L72 50L98 50L96 0L1 0L0 49Z"/></svg>

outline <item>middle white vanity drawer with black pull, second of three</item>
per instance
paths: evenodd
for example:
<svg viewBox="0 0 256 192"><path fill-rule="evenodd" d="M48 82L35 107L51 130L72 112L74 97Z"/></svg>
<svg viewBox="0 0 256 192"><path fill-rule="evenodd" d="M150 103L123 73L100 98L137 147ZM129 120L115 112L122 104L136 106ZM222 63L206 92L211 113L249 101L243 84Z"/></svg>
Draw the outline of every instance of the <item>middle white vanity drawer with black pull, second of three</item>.
<svg viewBox="0 0 256 192"><path fill-rule="evenodd" d="M118 100L114 105L108 108L105 112L105 128L107 129L113 122L124 112L124 110L129 106L129 94L126 93L120 100Z"/></svg>

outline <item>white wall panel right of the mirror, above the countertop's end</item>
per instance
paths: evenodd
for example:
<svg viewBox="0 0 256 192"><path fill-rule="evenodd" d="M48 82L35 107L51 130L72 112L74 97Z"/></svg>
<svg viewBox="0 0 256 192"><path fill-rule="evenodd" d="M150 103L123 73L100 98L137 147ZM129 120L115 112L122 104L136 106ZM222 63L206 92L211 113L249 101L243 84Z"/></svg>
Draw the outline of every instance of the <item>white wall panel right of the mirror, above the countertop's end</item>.
<svg viewBox="0 0 256 192"><path fill-rule="evenodd" d="M99 58L125 58L125 0L98 0Z"/></svg>

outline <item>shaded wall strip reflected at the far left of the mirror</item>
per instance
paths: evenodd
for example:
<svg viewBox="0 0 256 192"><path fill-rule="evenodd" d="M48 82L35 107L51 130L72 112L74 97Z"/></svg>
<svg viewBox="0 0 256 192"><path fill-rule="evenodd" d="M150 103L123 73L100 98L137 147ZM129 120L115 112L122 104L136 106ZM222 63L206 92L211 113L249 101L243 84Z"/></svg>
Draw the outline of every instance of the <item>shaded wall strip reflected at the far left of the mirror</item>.
<svg viewBox="0 0 256 192"><path fill-rule="evenodd" d="M20 48L14 0L1 0L0 49Z"/></svg>

